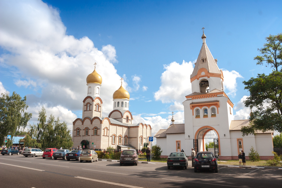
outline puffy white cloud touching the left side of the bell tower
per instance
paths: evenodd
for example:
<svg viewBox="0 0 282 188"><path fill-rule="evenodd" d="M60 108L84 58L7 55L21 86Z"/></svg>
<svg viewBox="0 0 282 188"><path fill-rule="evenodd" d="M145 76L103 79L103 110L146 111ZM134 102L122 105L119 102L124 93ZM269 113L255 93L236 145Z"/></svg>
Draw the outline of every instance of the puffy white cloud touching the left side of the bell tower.
<svg viewBox="0 0 282 188"><path fill-rule="evenodd" d="M164 65L164 69L161 76L161 86L154 93L155 100L160 100L162 103L183 102L185 96L191 93L192 62L187 63L183 60L181 65L172 62L169 65Z"/></svg>

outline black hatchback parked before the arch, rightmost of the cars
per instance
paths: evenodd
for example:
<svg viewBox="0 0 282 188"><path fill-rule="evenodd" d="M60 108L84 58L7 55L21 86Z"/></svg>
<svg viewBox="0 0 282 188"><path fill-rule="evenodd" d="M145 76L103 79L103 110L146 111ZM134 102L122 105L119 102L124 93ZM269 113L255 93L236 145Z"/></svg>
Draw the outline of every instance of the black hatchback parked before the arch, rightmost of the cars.
<svg viewBox="0 0 282 188"><path fill-rule="evenodd" d="M198 170L214 170L217 173L217 159L211 151L200 151L194 157L194 171Z"/></svg>

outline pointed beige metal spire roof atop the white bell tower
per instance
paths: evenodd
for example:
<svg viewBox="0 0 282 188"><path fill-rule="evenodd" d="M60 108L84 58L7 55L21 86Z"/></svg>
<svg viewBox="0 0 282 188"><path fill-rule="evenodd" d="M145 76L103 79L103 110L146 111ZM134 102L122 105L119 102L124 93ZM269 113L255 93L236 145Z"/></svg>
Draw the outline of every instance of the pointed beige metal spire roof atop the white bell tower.
<svg viewBox="0 0 282 188"><path fill-rule="evenodd" d="M221 70L219 70L217 62L214 60L212 53L206 45L206 35L204 34L204 32L201 38L203 39L203 45L190 79L196 76L198 70L200 70L201 68L205 68L209 73L221 74Z"/></svg>

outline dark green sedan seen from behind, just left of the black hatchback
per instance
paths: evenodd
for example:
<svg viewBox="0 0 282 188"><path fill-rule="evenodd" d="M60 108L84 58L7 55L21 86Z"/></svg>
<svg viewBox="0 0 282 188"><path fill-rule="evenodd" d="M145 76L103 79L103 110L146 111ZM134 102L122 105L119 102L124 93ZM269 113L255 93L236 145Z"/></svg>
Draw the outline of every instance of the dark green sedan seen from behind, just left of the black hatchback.
<svg viewBox="0 0 282 188"><path fill-rule="evenodd" d="M167 158L167 169L172 166L182 166L187 169L188 166L188 156L184 152L171 152L170 156Z"/></svg>

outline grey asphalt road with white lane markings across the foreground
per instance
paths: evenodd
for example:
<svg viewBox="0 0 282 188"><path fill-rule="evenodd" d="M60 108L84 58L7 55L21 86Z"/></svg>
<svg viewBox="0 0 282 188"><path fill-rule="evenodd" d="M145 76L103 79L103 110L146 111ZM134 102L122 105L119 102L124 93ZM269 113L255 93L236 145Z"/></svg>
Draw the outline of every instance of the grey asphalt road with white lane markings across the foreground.
<svg viewBox="0 0 282 188"><path fill-rule="evenodd" d="M42 159L0 155L0 187L280 187L282 170L218 167L218 173L195 173L192 167L167 169L166 163L139 163ZM7 185L6 185L7 184Z"/></svg>

